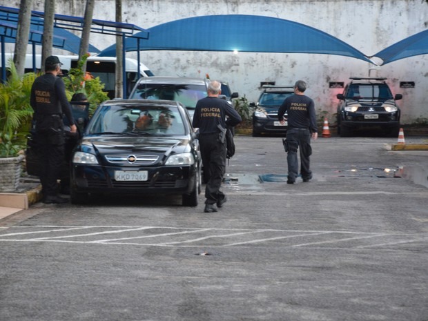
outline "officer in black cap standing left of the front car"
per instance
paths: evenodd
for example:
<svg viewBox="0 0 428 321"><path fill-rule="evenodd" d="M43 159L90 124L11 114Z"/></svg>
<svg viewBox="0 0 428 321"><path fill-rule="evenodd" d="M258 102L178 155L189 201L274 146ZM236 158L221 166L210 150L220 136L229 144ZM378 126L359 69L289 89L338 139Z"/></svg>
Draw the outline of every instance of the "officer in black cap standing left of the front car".
<svg viewBox="0 0 428 321"><path fill-rule="evenodd" d="M77 132L64 81L57 77L61 74L61 65L57 56L46 58L45 74L35 79L30 97L30 104L35 111L33 120L41 160L40 182L43 202L46 204L68 202L57 194L57 178L65 157L63 113L68 118L70 132Z"/></svg>

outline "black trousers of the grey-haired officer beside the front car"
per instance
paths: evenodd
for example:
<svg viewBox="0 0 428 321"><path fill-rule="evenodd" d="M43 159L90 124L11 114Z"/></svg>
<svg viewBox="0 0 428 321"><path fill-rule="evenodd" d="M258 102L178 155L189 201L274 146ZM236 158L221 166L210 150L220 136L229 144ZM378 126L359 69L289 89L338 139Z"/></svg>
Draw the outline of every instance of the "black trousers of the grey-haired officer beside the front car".
<svg viewBox="0 0 428 321"><path fill-rule="evenodd" d="M200 148L204 171L208 171L209 179L205 187L205 203L215 204L224 199L220 191L226 168L226 142L220 142L218 133L201 134Z"/></svg>

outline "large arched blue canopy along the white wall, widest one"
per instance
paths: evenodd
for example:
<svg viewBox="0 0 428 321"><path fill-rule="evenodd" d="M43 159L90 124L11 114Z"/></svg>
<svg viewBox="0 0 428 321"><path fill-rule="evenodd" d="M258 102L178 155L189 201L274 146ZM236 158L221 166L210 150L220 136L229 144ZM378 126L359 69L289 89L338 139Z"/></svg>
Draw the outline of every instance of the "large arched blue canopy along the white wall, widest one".
<svg viewBox="0 0 428 321"><path fill-rule="evenodd" d="M160 24L148 32L146 40L127 39L125 50L315 53L348 56L374 64L362 52L326 32L273 17L243 14L192 17ZM115 45L99 53L99 56L115 55Z"/></svg>

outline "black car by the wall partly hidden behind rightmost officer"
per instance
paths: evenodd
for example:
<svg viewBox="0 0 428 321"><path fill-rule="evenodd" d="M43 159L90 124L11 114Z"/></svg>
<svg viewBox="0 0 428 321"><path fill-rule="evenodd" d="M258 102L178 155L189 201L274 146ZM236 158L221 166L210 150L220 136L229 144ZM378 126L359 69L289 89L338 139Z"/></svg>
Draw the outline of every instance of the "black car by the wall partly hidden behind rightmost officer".
<svg viewBox="0 0 428 321"><path fill-rule="evenodd" d="M253 137L262 133L285 134L287 124L284 125L278 120L278 109L286 99L293 95L293 86L271 86L264 85L263 91L257 101L250 106L255 108L253 112ZM284 115L286 120L286 114Z"/></svg>

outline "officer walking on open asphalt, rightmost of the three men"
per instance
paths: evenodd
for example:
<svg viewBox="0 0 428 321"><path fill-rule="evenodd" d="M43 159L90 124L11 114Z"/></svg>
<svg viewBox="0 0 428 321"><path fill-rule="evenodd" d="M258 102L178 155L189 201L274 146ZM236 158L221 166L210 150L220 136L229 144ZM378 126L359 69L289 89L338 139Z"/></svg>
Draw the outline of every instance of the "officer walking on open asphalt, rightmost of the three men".
<svg viewBox="0 0 428 321"><path fill-rule="evenodd" d="M278 110L278 119L284 125L287 112L288 129L286 150L289 175L288 184L294 184L299 173L298 149L300 149L300 173L303 182L312 178L309 157L312 154L311 138L318 138L318 128L313 100L304 95L307 84L298 80L294 85L294 95L287 97Z"/></svg>

